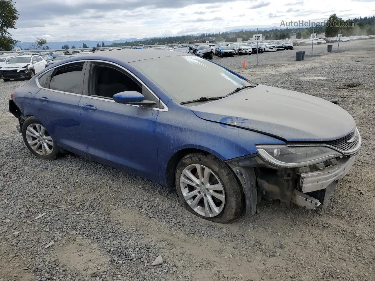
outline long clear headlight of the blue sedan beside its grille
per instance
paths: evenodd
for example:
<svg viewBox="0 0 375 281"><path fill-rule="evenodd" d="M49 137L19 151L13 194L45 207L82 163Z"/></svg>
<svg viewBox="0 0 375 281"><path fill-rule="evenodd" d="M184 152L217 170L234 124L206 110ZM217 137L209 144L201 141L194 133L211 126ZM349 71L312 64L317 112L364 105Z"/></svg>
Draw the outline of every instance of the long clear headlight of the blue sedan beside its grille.
<svg viewBox="0 0 375 281"><path fill-rule="evenodd" d="M255 147L266 162L284 168L311 166L343 156L340 152L326 146L257 145Z"/></svg>

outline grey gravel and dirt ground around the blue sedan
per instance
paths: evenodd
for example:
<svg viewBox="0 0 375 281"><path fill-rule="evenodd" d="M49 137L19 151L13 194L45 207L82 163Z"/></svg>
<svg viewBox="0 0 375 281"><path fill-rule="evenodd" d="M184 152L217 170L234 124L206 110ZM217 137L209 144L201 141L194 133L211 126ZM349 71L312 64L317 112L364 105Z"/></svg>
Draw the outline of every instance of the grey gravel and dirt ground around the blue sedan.
<svg viewBox="0 0 375 281"><path fill-rule="evenodd" d="M334 49L335 49L335 45ZM176 193L76 155L35 158L0 80L0 281L375 280L375 40L295 61L294 51L214 58L251 80L336 98L363 146L327 210L263 201L231 224L201 220ZM148 265L161 255L161 265Z"/></svg>

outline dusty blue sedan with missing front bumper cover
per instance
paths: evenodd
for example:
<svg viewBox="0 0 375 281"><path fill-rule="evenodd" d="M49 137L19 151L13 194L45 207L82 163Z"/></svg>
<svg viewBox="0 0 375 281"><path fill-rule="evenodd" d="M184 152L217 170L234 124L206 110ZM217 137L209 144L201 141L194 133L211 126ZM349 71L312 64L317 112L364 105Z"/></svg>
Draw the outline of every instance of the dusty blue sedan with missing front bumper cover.
<svg viewBox="0 0 375 281"><path fill-rule="evenodd" d="M36 157L73 152L148 178L220 223L255 214L262 197L326 208L361 146L334 103L151 49L57 62L15 90L9 111Z"/></svg>

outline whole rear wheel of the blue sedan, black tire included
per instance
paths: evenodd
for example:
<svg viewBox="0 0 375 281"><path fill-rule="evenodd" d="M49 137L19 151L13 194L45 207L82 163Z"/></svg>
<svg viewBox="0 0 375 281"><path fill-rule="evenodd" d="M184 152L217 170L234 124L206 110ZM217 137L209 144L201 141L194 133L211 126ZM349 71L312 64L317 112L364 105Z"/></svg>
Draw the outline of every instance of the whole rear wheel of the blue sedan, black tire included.
<svg viewBox="0 0 375 281"><path fill-rule="evenodd" d="M42 128L45 130L43 133ZM32 129L32 130L31 130ZM36 132L37 134L34 134L33 132ZM40 133L42 136L44 136L42 139L44 141L43 143L40 143ZM35 117L31 116L26 119L26 121L22 125L22 136L23 140L27 146L27 148L31 151L32 154L34 154L36 157L44 160L55 160L58 157L58 154L60 152L60 147L57 145L57 143L52 139L52 137L49 135L47 130L43 127L43 124L40 123L39 120L37 120ZM34 149L31 147L29 142L33 142L39 139L39 145L38 142L36 142L36 145L33 146ZM46 150L47 147L51 151ZM42 149L43 148L43 149ZM43 155L44 154L44 155Z"/></svg>

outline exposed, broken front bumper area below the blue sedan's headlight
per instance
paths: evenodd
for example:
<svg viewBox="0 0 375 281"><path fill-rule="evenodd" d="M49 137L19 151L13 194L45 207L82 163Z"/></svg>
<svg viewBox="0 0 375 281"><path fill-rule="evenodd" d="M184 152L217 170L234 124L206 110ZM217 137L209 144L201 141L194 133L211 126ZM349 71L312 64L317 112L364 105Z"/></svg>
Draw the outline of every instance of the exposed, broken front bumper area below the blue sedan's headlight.
<svg viewBox="0 0 375 281"><path fill-rule="evenodd" d="M318 206L327 208L338 180L349 172L355 158L355 155L351 155L337 161L327 161L324 166L278 169L270 167L255 153L226 163L242 184L246 212L252 215L262 197L266 200L280 200L284 206L294 203L306 209Z"/></svg>

